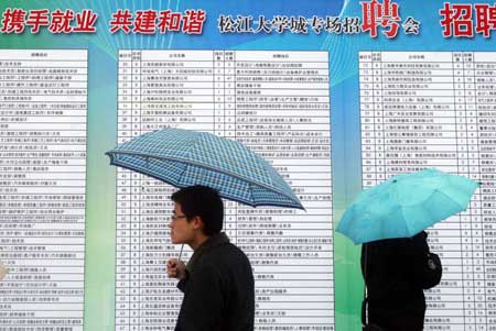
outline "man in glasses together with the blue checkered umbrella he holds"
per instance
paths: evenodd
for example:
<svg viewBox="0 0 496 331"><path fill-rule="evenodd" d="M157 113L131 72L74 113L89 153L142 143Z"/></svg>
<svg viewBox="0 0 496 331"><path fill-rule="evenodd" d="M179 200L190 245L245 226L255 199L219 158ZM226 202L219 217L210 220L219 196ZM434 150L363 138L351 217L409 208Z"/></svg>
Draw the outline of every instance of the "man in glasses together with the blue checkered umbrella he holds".
<svg viewBox="0 0 496 331"><path fill-rule="evenodd" d="M177 128L144 133L106 154L111 165L180 188L172 195L171 239L194 253L187 265L168 262L168 275L180 279L184 293L175 330L254 330L252 269L220 232L222 198L304 210L282 176L237 141Z"/></svg>

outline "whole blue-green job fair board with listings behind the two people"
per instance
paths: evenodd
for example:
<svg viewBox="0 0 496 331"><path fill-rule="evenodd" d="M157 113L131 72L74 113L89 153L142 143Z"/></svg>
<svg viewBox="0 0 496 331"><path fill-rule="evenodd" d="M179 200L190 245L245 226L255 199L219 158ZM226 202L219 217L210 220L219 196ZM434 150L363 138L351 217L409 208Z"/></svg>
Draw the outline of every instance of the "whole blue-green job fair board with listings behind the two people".
<svg viewBox="0 0 496 331"><path fill-rule="evenodd" d="M305 211L225 201L255 329L360 330L363 188L427 167L479 181L428 229L425 330L496 330L496 5L487 1L3 1L0 330L174 330L175 188L105 152L162 128L246 144ZM182 253L184 261L192 255Z"/></svg>

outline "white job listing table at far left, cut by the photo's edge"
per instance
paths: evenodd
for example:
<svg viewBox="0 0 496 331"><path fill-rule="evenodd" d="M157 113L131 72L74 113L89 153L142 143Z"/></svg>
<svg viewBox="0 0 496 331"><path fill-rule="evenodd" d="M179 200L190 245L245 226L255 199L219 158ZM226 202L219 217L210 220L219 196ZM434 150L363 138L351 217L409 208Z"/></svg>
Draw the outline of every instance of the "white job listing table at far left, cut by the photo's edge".
<svg viewBox="0 0 496 331"><path fill-rule="evenodd" d="M83 330L86 93L86 51L0 51L0 330Z"/></svg>

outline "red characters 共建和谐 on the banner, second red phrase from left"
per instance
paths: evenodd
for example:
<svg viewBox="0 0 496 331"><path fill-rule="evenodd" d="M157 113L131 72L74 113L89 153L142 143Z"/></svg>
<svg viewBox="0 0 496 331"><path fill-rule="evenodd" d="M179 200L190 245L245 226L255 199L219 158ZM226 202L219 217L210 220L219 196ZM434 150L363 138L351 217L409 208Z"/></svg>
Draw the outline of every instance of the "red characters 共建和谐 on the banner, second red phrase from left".
<svg viewBox="0 0 496 331"><path fill-rule="evenodd" d="M110 33L122 31L123 33L154 34L166 32L180 32L186 34L202 34L206 20L204 10L185 10L184 13L171 10L138 10L133 15L128 9L119 9L112 13L109 22Z"/></svg>

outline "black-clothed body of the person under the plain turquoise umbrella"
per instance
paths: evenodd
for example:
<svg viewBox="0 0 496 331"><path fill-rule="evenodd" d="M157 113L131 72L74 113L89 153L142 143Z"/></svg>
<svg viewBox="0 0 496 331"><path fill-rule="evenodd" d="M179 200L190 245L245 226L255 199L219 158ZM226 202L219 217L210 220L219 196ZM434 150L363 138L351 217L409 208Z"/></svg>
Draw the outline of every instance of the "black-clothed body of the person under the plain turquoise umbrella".
<svg viewBox="0 0 496 331"><path fill-rule="evenodd" d="M412 238L387 239L362 246L362 273L367 287L364 330L423 330L425 297L422 269L429 253L424 231ZM367 310L367 311L365 311Z"/></svg>

